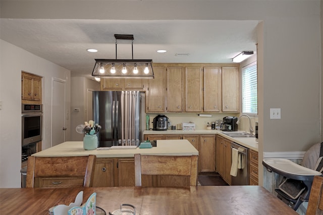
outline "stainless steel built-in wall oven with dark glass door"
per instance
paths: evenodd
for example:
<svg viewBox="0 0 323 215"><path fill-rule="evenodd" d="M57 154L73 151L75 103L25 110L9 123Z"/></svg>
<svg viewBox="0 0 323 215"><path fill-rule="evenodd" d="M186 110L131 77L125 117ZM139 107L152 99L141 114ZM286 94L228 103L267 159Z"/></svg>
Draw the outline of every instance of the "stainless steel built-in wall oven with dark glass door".
<svg viewBox="0 0 323 215"><path fill-rule="evenodd" d="M22 145L41 141L42 105L22 104Z"/></svg>

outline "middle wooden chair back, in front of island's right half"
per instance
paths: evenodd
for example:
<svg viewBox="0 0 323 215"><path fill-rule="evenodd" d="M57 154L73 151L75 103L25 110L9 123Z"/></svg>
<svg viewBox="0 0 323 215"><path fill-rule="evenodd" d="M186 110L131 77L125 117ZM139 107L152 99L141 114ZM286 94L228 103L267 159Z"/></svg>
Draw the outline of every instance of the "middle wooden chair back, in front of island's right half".
<svg viewBox="0 0 323 215"><path fill-rule="evenodd" d="M197 155L165 156L135 154L135 186L141 186L142 175L187 176L189 177L189 184L183 186L196 186Z"/></svg>

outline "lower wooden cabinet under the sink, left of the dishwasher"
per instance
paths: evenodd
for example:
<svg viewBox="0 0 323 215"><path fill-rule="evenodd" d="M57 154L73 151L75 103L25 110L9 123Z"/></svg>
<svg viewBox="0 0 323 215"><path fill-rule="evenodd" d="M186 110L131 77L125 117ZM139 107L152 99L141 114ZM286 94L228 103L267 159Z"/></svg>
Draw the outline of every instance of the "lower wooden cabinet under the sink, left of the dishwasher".
<svg viewBox="0 0 323 215"><path fill-rule="evenodd" d="M231 185L231 164L232 164L232 151L231 142L223 138L222 136L217 136L217 168L218 173L222 178Z"/></svg>

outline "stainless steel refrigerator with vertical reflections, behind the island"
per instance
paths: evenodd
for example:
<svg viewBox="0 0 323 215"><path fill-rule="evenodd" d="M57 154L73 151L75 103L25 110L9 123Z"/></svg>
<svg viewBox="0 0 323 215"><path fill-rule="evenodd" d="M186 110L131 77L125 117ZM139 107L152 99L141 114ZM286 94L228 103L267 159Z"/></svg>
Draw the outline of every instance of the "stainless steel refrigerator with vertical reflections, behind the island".
<svg viewBox="0 0 323 215"><path fill-rule="evenodd" d="M93 91L98 147L140 143L140 92Z"/></svg>

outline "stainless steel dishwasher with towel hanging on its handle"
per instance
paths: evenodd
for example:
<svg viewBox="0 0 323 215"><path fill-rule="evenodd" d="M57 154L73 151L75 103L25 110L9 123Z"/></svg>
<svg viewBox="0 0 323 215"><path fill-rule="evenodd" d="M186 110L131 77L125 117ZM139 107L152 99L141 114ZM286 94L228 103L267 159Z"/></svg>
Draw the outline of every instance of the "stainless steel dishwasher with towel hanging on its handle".
<svg viewBox="0 0 323 215"><path fill-rule="evenodd" d="M240 154L241 159L241 169L238 169L237 176L231 176L232 185L248 185L248 154L249 148L239 145L235 142L231 142L231 148L238 149L238 154Z"/></svg>

